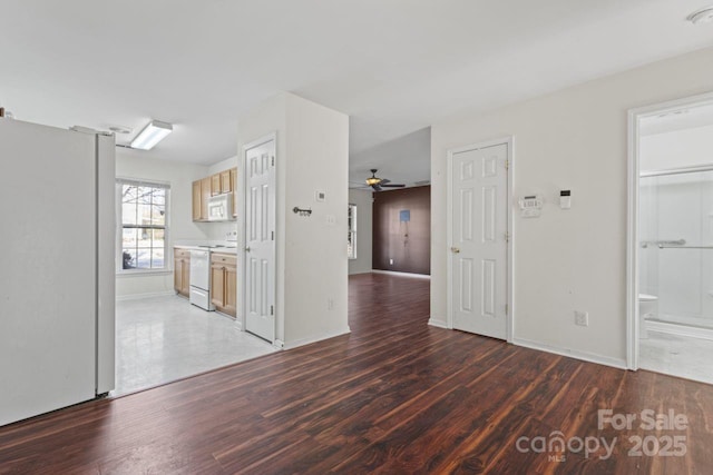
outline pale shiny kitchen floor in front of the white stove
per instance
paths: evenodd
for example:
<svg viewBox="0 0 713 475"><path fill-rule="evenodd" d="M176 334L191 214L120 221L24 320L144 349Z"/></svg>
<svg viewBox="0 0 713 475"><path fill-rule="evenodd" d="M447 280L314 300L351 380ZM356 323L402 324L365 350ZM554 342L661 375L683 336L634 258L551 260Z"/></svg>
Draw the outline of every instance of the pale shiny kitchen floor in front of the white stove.
<svg viewBox="0 0 713 475"><path fill-rule="evenodd" d="M275 352L235 321L178 296L116 306L116 389L111 396L169 383Z"/></svg>

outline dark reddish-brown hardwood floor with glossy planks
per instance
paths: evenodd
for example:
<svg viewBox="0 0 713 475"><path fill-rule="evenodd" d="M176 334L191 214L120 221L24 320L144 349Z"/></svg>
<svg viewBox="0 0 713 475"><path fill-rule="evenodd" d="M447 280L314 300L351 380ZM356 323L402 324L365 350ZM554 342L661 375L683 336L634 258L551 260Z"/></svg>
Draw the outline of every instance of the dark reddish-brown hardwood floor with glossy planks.
<svg viewBox="0 0 713 475"><path fill-rule="evenodd" d="M0 473L713 473L713 386L428 316L428 280L352 277L351 335L2 427ZM599 429L599 409L636 419Z"/></svg>

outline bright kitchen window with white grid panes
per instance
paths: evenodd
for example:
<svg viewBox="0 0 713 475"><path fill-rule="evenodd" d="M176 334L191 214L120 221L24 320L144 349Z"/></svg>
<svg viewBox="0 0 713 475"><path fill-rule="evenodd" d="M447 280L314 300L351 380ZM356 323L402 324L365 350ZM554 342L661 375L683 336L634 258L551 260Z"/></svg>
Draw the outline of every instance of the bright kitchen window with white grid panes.
<svg viewBox="0 0 713 475"><path fill-rule="evenodd" d="M167 184L117 179L118 273L168 270Z"/></svg>

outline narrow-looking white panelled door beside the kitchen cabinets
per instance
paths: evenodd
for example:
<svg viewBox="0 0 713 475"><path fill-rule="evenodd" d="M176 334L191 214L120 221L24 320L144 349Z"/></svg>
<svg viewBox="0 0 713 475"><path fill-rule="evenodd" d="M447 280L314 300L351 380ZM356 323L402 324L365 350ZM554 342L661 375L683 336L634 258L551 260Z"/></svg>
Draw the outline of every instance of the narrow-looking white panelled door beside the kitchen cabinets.
<svg viewBox="0 0 713 475"><path fill-rule="evenodd" d="M275 340L275 139L245 154L245 329Z"/></svg>

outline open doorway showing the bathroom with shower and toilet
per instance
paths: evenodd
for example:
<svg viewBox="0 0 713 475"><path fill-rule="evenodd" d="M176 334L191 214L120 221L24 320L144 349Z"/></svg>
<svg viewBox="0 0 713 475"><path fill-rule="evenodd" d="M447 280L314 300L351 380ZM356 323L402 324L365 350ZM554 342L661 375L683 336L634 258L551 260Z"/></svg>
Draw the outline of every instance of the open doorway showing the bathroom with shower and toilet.
<svg viewBox="0 0 713 475"><path fill-rule="evenodd" d="M632 130L631 366L713 384L713 96L633 111Z"/></svg>

